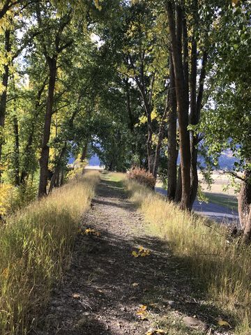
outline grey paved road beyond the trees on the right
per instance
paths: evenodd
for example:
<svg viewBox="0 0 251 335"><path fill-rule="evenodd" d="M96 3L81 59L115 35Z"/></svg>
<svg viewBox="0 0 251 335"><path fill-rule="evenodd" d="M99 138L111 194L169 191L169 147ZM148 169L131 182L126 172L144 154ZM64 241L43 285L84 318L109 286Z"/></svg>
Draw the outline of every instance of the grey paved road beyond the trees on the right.
<svg viewBox="0 0 251 335"><path fill-rule="evenodd" d="M167 195L167 191L161 187L155 187L155 191L161 193L162 195ZM213 202L206 203L195 201L192 208L196 213L207 216L214 221L228 224L239 224L238 212L231 210L228 207L221 206L220 204L213 204Z"/></svg>

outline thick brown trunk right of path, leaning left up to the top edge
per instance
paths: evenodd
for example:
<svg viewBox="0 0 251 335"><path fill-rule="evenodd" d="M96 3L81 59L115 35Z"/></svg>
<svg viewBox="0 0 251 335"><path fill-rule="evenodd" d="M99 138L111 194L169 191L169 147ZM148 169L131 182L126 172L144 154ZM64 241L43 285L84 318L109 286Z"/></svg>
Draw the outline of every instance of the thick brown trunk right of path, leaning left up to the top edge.
<svg viewBox="0 0 251 335"><path fill-rule="evenodd" d="M188 131L188 90L184 77L184 65L182 61L182 31L184 31L183 11L176 5L176 24L174 22L174 8L171 2L167 1L167 16L171 37L172 59L174 62L174 77L176 87L176 101L178 112L178 128L180 135L181 153L181 209L190 207L190 134ZM183 36L184 38L184 36Z"/></svg>

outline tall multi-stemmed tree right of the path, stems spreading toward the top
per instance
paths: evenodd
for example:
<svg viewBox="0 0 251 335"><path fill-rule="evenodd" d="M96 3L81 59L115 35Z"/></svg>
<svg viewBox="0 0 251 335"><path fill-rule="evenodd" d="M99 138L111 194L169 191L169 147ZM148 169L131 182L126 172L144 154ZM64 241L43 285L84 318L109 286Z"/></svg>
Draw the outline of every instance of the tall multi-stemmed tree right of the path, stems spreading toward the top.
<svg viewBox="0 0 251 335"><path fill-rule="evenodd" d="M176 87L181 155L181 208L192 209L198 188L197 156L200 140L193 128L199 124L201 114L210 50L208 33L218 16L220 3L197 0L192 3L174 3L166 0L165 6Z"/></svg>

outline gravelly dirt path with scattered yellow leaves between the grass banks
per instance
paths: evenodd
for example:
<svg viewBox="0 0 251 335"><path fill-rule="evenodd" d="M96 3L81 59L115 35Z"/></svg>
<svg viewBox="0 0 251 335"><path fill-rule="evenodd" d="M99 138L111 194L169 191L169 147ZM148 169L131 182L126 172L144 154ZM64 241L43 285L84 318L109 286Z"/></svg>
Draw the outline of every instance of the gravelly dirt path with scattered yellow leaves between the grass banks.
<svg viewBox="0 0 251 335"><path fill-rule="evenodd" d="M82 221L86 228L100 235L77 236L70 269L34 334L144 335L151 327L168 329L169 335L201 334L180 325L185 315L208 325L222 315L197 298L184 260L165 241L144 234L142 217L119 183L101 181ZM134 258L138 246L151 254ZM146 320L137 315L141 304L147 306Z"/></svg>

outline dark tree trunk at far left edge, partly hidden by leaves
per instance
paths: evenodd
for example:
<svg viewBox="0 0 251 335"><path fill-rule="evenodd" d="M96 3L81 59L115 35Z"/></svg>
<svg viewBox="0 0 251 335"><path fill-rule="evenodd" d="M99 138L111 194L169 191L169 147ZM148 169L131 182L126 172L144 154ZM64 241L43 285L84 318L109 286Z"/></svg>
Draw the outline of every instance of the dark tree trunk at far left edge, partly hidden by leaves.
<svg viewBox="0 0 251 335"><path fill-rule="evenodd" d="M10 30L7 29L5 32L5 46L4 50L6 52L5 56L8 52L10 52ZM3 127L5 123L6 117L6 101L7 101L7 88L8 88L8 75L9 75L9 65L6 64L3 66L3 77L2 77L2 85L4 91L0 96L0 182L1 182L1 158L2 158L2 149L3 149Z"/></svg>

